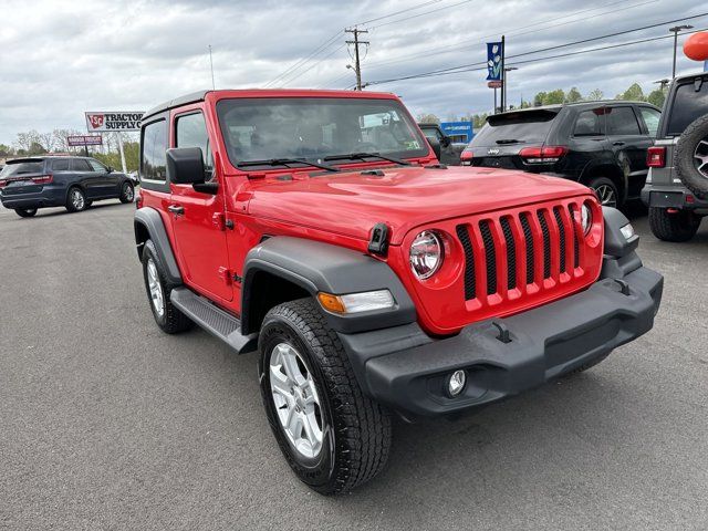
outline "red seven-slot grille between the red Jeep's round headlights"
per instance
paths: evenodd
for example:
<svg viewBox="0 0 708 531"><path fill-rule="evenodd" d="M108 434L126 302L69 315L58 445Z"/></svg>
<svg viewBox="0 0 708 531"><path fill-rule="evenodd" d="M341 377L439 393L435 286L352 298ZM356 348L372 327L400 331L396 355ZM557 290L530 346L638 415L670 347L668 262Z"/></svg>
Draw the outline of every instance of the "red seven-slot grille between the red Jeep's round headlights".
<svg viewBox="0 0 708 531"><path fill-rule="evenodd" d="M573 202L544 206L458 225L465 300L506 299L512 291L520 296L582 275L580 208Z"/></svg>

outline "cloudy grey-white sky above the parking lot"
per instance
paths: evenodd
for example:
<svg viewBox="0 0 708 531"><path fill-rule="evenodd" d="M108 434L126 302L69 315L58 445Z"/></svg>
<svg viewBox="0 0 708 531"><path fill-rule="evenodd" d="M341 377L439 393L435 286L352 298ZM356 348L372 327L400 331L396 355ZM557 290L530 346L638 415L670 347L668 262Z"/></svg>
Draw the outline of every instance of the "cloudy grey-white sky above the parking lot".
<svg viewBox="0 0 708 531"><path fill-rule="evenodd" d="M0 143L17 133L84 131L85 111L145 111L184 93L217 88L325 87L355 83L343 30L362 38L366 90L398 94L414 115L446 119L490 111L486 72L376 84L486 60L485 42L506 34L509 103L539 91L594 88L612 97L638 82L645 93L670 76L673 39L568 58L551 55L708 28L695 0L0 0ZM9 21L12 21L9 23ZM546 52L538 50L639 27L653 29ZM678 73L702 70L684 56ZM527 53L535 52L535 53ZM534 60L533 62L522 62ZM282 75L285 73L287 75Z"/></svg>

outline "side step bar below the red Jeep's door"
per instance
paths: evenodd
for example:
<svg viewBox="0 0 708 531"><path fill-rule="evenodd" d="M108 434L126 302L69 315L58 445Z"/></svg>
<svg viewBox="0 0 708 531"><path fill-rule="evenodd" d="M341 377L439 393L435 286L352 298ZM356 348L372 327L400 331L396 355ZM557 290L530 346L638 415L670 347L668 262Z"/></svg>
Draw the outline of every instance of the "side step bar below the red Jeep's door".
<svg viewBox="0 0 708 531"><path fill-rule="evenodd" d="M185 315L229 344L239 354L258 348L258 334L241 334L241 322L187 288L175 288L169 299Z"/></svg>

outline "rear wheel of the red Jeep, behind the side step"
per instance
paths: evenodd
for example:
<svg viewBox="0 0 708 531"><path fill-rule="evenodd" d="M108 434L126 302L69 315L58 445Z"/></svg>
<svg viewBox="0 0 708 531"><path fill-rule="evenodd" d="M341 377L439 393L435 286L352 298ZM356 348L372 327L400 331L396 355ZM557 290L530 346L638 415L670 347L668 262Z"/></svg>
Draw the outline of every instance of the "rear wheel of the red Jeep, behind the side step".
<svg viewBox="0 0 708 531"><path fill-rule="evenodd" d="M169 299L175 284L165 275L163 262L152 240L145 242L143 248L143 277L145 278L145 291L150 302L150 310L155 322L167 334L177 334L189 330L192 322L181 313Z"/></svg>

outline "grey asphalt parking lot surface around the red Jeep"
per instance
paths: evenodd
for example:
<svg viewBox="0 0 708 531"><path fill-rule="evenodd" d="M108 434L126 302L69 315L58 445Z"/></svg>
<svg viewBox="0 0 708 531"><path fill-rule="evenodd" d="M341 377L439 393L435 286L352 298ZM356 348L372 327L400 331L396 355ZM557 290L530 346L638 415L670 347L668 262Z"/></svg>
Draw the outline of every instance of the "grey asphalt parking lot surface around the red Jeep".
<svg viewBox="0 0 708 531"><path fill-rule="evenodd" d="M595 369L457 423L397 423L352 494L302 486L256 355L163 334L134 207L0 209L0 528L708 529L708 222L657 241L655 329Z"/></svg>

